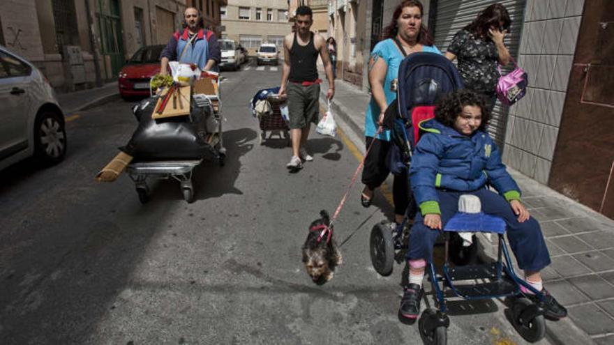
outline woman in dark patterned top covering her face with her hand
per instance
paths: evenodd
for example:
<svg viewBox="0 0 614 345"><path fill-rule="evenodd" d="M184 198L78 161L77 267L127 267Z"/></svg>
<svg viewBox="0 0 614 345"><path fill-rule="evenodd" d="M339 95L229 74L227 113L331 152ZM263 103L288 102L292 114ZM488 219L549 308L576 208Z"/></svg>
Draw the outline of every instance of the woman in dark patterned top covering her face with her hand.
<svg viewBox="0 0 614 345"><path fill-rule="evenodd" d="M493 3L454 35L445 53L450 61L458 59L458 72L463 77L465 89L482 95L489 111L497 100L500 77L497 66L506 66L511 60L503 43L510 24L507 9L500 3Z"/></svg>

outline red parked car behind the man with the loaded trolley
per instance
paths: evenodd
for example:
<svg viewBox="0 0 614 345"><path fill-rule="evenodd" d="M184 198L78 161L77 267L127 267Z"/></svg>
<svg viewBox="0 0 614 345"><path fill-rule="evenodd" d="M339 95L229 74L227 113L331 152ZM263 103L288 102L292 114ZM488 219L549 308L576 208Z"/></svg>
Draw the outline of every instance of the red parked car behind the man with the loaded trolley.
<svg viewBox="0 0 614 345"><path fill-rule="evenodd" d="M165 45L147 45L121 68L117 84L122 98L149 96L149 79L160 72L160 53Z"/></svg>

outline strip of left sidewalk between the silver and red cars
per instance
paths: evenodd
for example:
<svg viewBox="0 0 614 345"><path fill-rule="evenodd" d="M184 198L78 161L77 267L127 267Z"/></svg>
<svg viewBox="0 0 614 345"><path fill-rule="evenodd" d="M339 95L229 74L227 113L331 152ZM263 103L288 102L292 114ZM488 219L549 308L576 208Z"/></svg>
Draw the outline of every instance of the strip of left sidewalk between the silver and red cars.
<svg viewBox="0 0 614 345"><path fill-rule="evenodd" d="M96 107L114 98L119 99L117 81L82 91L56 93L64 115Z"/></svg>

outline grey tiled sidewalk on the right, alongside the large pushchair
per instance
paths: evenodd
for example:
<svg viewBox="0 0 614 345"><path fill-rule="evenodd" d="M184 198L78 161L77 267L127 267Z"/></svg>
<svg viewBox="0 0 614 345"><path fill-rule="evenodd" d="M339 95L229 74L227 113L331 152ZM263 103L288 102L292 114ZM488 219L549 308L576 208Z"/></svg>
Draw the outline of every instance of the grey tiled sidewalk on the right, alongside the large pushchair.
<svg viewBox="0 0 614 345"><path fill-rule="evenodd" d="M322 87L322 105L327 89ZM331 109L362 153L369 98L357 86L336 79ZM553 344L614 344L614 220L514 169L509 172L546 238L552 264L542 271L545 285L569 311L566 319L547 322L546 337ZM484 247L486 254L496 257L495 245Z"/></svg>

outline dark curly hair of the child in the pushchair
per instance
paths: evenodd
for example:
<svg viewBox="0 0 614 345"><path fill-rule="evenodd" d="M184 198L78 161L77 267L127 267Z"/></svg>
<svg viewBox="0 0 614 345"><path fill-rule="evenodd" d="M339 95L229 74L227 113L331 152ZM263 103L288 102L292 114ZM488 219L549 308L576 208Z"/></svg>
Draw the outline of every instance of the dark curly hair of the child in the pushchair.
<svg viewBox="0 0 614 345"><path fill-rule="evenodd" d="M437 107L435 107L435 119L442 123L442 125L447 125L448 127L454 128L456 118L459 114L461 114L461 112L463 112L463 107L467 105L480 107L482 112L482 122L480 123L478 129L481 131L486 131L488 121L491 120L491 112L486 107L486 101L481 95L466 89L454 91L444 95L440 102L437 103Z"/></svg>

